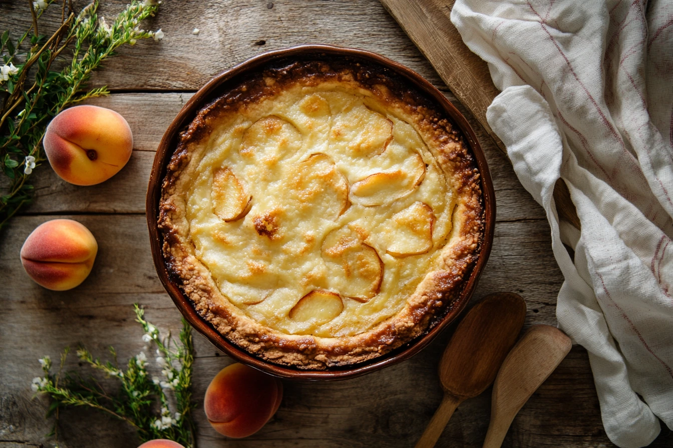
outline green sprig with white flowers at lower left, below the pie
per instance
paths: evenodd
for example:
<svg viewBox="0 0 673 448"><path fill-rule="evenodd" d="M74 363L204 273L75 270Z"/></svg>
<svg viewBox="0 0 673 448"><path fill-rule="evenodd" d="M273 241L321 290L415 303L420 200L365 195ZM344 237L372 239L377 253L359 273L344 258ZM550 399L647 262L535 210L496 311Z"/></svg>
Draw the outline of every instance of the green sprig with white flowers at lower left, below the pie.
<svg viewBox="0 0 673 448"><path fill-rule="evenodd" d="M40 359L44 377L35 377L32 389L47 394L51 403L47 417L56 415L67 406L87 406L123 420L137 431L142 442L153 439L170 439L187 448L196 448L197 439L193 420L192 366L194 346L191 327L183 319L180 330L180 344L167 337L161 337L159 330L144 319L144 311L134 305L136 321L143 326L143 341L154 343L157 369L161 377L150 376L147 371L147 355L139 353L129 359L126 370L120 369L116 361L116 351L110 347L113 361L102 362L85 348L77 349L77 357L94 369L120 382L118 392L112 394L98 380L83 377L79 373L63 373L63 365L69 354L65 349L61 354L61 364L57 373L52 373L52 362L48 356ZM58 423L50 435L57 437Z"/></svg>

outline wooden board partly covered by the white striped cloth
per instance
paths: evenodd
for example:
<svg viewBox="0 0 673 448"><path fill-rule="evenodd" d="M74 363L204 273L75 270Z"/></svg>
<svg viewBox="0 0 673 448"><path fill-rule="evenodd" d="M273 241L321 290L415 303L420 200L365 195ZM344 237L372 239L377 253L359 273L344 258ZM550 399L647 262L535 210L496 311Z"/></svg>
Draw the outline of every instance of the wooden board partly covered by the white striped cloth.
<svg viewBox="0 0 673 448"><path fill-rule="evenodd" d="M502 140L489 126L486 109L498 89L491 81L489 67L464 44L451 23L454 0L380 0L402 30L430 61L439 77L467 107L498 148L507 154ZM565 182L554 186L554 201L559 217L579 228L575 205Z"/></svg>

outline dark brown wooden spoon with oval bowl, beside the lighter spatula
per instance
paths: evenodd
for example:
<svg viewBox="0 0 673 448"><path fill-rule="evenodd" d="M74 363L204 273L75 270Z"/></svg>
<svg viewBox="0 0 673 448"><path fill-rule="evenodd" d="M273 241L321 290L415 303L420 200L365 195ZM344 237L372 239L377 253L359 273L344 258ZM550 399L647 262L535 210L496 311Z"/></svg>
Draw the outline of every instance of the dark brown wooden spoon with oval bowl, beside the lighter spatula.
<svg viewBox="0 0 673 448"><path fill-rule="evenodd" d="M416 448L435 446L458 404L476 397L493 383L525 318L526 302L509 292L490 294L472 307L439 361L444 399Z"/></svg>

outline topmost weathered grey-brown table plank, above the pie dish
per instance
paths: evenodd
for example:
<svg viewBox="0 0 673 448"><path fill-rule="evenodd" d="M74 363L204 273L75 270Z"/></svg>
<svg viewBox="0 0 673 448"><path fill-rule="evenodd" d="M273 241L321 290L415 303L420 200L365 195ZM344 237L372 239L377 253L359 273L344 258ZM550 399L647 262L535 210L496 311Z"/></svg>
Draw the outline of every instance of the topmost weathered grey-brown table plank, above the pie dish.
<svg viewBox="0 0 673 448"><path fill-rule="evenodd" d="M86 1L74 3L81 7ZM100 14L112 17L127 1L102 3ZM0 28L17 34L29 26L25 2L3 1L0 8ZM55 28L61 12L56 9L42 17L42 29ZM376 1L164 1L144 28L162 28L166 37L120 48L119 56L94 75L94 85L125 91L194 90L256 54L306 43L378 52L441 84L427 59ZM196 36L194 28L200 30Z"/></svg>

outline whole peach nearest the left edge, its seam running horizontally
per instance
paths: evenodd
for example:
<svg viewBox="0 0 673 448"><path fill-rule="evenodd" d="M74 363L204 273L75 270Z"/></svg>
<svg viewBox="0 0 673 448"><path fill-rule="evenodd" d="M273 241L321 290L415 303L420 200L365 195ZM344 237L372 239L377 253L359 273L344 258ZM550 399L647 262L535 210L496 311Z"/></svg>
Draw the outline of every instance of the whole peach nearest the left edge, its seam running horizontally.
<svg viewBox="0 0 673 448"><path fill-rule="evenodd" d="M65 291L89 275L96 253L96 238L85 226L73 220L51 220L28 235L21 263L38 285Z"/></svg>

